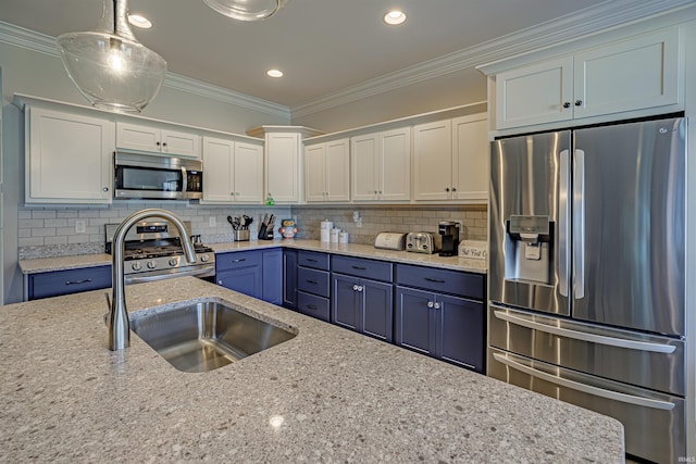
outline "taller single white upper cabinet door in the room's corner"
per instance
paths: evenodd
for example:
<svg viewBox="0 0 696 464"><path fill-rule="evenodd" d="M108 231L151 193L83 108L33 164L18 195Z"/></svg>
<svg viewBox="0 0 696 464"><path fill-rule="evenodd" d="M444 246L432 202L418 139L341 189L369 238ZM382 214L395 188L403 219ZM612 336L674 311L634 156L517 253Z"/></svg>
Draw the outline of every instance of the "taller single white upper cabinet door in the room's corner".
<svg viewBox="0 0 696 464"><path fill-rule="evenodd" d="M300 135L266 134L266 193L276 203L298 203L300 199Z"/></svg>

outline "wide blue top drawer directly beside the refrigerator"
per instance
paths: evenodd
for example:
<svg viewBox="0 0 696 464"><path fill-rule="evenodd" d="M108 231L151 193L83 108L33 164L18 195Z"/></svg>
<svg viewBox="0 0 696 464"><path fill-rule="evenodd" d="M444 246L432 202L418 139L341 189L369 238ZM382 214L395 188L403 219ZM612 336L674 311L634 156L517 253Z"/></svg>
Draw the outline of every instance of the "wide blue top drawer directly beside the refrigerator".
<svg viewBox="0 0 696 464"><path fill-rule="evenodd" d="M398 285L459 294L476 300L484 298L484 277L477 274L397 264L396 281Z"/></svg>

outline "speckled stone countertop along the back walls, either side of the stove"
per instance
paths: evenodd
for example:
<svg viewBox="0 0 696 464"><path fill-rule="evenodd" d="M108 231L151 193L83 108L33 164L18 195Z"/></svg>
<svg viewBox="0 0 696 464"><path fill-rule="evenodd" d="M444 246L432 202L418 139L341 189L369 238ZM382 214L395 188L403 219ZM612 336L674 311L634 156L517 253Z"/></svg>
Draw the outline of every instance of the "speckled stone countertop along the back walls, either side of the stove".
<svg viewBox="0 0 696 464"><path fill-rule="evenodd" d="M378 250L369 244L327 243L319 240L233 241L229 243L212 243L210 247L215 251L215 253L258 250L268 247L293 247L301 250L323 251L327 253L391 261L395 263L419 264L423 266L442 267L455 271L467 271L478 274L486 274L487 266L487 262L485 260L473 260L459 256L439 256L437 254L411 253L408 251ZM80 267L104 266L110 264L111 255L101 253L21 260L20 268L23 274L28 275L53 271L75 269Z"/></svg>

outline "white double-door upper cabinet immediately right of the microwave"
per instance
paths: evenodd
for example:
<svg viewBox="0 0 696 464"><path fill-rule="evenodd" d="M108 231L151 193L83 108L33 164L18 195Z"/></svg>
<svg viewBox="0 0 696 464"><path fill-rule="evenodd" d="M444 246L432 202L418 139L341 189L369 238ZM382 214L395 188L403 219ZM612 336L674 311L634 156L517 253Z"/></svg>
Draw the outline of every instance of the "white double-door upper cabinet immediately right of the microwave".
<svg viewBox="0 0 696 464"><path fill-rule="evenodd" d="M203 202L260 203L263 147L203 137Z"/></svg>

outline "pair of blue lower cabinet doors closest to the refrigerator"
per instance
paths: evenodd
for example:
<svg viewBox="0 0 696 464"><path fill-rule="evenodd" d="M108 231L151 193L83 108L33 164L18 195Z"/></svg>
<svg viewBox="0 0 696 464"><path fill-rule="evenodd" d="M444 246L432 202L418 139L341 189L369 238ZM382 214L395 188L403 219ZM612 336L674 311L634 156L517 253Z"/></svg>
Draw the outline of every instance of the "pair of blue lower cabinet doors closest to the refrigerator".
<svg viewBox="0 0 696 464"><path fill-rule="evenodd" d="M395 310L396 344L483 373L482 302L397 286Z"/></svg>

